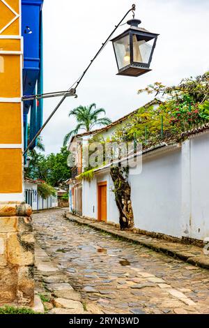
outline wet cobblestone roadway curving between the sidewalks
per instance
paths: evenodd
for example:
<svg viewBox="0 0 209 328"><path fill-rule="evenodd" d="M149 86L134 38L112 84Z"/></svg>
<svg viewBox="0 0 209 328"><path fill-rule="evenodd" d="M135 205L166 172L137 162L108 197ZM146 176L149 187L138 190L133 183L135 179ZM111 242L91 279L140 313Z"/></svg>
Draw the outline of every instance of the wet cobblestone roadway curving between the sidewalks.
<svg viewBox="0 0 209 328"><path fill-rule="evenodd" d="M209 313L209 271L63 218L33 214L38 244L102 313Z"/></svg>

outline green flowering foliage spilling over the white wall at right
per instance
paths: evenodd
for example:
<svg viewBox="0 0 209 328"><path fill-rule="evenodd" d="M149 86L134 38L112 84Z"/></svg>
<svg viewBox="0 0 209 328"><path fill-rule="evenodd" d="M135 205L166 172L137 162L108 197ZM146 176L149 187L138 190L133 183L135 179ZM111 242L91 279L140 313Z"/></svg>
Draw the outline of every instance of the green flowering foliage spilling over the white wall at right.
<svg viewBox="0 0 209 328"><path fill-rule="evenodd" d="M167 100L158 108L140 108L114 133L113 140L136 140L145 147L157 142L180 140L181 133L209 121L209 73L185 79L178 86L160 82L149 85L148 94L164 94Z"/></svg>

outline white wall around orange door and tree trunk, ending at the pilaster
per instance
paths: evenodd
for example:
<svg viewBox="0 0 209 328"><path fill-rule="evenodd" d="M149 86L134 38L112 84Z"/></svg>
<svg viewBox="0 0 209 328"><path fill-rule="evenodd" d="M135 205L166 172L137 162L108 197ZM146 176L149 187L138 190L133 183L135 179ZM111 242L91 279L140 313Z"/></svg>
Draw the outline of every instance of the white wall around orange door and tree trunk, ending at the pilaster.
<svg viewBox="0 0 209 328"><path fill-rule="evenodd" d="M109 174L95 174L83 181L83 215L98 218L98 183L107 181L107 221L119 223L113 181ZM135 228L181 237L181 153L169 151L144 158L143 166L130 170ZM93 211L94 210L94 211Z"/></svg>

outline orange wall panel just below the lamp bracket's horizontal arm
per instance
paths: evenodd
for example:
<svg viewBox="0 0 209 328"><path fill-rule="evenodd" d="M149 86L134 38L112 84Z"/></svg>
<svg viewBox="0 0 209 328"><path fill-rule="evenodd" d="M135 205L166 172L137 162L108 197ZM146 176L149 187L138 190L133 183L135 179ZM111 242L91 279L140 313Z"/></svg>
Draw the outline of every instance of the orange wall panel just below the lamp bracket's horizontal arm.
<svg viewBox="0 0 209 328"><path fill-rule="evenodd" d="M21 104L0 103L0 144L21 144Z"/></svg>

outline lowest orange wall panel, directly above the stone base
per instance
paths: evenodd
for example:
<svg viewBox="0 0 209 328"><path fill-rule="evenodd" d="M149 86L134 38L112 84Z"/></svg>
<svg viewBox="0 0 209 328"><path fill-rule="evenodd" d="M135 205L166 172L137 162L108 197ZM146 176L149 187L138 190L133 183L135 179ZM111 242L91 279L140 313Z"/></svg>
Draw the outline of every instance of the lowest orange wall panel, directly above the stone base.
<svg viewBox="0 0 209 328"><path fill-rule="evenodd" d="M0 193L22 193L22 149L0 149Z"/></svg>

